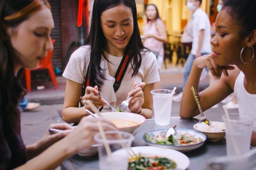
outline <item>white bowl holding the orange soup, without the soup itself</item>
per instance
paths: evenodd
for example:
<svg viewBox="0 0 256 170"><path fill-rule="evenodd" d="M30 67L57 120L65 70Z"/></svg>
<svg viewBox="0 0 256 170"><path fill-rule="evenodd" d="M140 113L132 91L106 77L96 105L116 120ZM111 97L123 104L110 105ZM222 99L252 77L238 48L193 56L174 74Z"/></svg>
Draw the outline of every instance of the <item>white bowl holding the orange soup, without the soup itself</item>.
<svg viewBox="0 0 256 170"><path fill-rule="evenodd" d="M118 130L123 131L123 132L128 132L132 133L135 131L136 128L139 128L140 125L142 125L145 121L146 118L140 114L135 114L135 113L128 113L128 112L104 112L101 113L103 118L106 118L110 121L133 121L137 123L137 125L131 125L131 126L126 126L126 127L117 127ZM89 115L92 116L92 115Z"/></svg>

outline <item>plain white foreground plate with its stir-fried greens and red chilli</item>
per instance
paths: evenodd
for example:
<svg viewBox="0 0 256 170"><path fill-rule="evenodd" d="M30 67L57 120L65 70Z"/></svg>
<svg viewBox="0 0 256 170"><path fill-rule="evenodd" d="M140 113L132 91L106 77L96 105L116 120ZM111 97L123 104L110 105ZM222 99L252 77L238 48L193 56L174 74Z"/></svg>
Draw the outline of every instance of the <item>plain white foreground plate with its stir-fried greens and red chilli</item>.
<svg viewBox="0 0 256 170"><path fill-rule="evenodd" d="M190 164L188 156L173 149L155 146L131 147L137 157L131 157L127 149L112 153L113 157L128 157L128 170L186 170Z"/></svg>

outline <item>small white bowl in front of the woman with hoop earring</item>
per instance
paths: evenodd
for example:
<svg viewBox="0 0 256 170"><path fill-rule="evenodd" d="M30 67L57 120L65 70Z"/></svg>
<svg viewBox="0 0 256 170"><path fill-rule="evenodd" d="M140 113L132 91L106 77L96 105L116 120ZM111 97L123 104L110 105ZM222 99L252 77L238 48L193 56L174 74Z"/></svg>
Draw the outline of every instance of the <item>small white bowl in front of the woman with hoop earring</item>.
<svg viewBox="0 0 256 170"><path fill-rule="evenodd" d="M199 123L195 124L193 126L194 129L196 129L198 132L202 132L207 136L207 140L210 141L218 141L222 139L225 136L225 124L224 122L219 122L219 121L210 121L210 126L217 126L221 128L220 132L210 132L207 130L202 130L198 128Z"/></svg>

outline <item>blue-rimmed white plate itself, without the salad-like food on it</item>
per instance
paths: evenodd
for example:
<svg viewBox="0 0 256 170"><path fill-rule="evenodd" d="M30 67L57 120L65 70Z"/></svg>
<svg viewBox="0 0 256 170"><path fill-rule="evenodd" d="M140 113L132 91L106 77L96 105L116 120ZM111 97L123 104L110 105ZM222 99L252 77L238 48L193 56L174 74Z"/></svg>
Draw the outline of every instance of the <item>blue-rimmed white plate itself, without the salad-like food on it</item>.
<svg viewBox="0 0 256 170"><path fill-rule="evenodd" d="M167 130L168 129L153 130L153 131L148 132L147 134L149 136L154 137L156 135L161 135L161 134L165 133ZM192 149L199 148L200 146L202 146L204 144L204 142L206 140L206 135L204 135L201 132L194 131L194 130L183 129L183 128L176 128L176 132L177 133L181 133L181 134L183 134L183 133L190 133L195 138L201 138L202 142L196 143L194 145L188 145L188 146L175 146L175 145L164 145L164 144L158 144L158 143L149 142L149 141L147 141L144 138L144 136L143 136L143 139L147 142L147 144L149 146L159 146L159 147L163 147L163 148L169 148L169 149L178 150L178 151L181 151L181 152L187 152L187 151L190 151Z"/></svg>

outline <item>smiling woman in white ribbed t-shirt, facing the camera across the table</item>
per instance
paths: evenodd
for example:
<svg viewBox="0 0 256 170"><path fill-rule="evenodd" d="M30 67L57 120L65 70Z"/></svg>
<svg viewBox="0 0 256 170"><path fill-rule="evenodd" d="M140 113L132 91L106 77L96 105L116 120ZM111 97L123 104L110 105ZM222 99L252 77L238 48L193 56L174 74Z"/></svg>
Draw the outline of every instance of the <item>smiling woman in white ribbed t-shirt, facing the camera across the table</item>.
<svg viewBox="0 0 256 170"><path fill-rule="evenodd" d="M127 65L122 64L125 59ZM118 83L115 75L121 72L120 66L127 66L127 69ZM64 121L79 122L88 115L85 111L85 108L90 109L88 100L103 107L105 102L97 96L99 92L114 108L132 97L129 110L152 117L150 91L160 78L153 53L142 45L134 0L94 1L89 37L85 46L71 55L63 76L67 78L62 109ZM83 87L85 93L82 93ZM84 107L78 108L81 94ZM102 111L110 109L103 107Z"/></svg>

